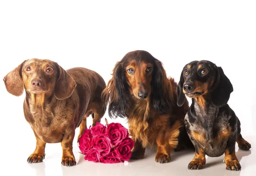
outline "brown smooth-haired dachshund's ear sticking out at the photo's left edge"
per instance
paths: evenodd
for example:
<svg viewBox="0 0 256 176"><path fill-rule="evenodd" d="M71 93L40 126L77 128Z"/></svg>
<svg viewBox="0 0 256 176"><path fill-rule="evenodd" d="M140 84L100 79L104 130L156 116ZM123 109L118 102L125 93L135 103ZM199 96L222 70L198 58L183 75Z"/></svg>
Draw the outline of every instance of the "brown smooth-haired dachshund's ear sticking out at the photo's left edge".
<svg viewBox="0 0 256 176"><path fill-rule="evenodd" d="M21 69L22 69L24 62L22 62L14 70L10 71L3 78L4 84L6 86L6 90L10 94L15 95L17 97L21 96L24 91L24 83L23 83L22 76L21 76Z"/></svg>

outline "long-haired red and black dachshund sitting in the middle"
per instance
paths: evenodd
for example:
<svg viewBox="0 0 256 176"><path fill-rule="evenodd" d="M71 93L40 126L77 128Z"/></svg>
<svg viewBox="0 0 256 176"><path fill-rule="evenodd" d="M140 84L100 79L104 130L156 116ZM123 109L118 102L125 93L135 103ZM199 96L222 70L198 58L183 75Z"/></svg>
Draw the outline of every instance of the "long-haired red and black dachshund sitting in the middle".
<svg viewBox="0 0 256 176"><path fill-rule="evenodd" d="M166 77L159 60L146 51L131 51L116 63L112 75L102 97L111 118L128 119L135 142L131 159L143 158L149 146L157 149L155 161L166 163L172 150L189 146L184 125L188 102L177 106L177 83Z"/></svg>

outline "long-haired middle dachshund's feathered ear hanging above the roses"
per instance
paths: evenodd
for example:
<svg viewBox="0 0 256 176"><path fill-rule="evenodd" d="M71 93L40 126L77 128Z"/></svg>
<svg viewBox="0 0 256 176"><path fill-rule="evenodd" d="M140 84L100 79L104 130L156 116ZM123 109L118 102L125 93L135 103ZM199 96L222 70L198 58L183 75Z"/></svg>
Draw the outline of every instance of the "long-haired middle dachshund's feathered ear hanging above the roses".
<svg viewBox="0 0 256 176"><path fill-rule="evenodd" d="M122 62L117 62L112 78L109 80L107 87L102 91L102 99L108 106L108 115L111 118L127 117L126 110L129 107L128 83L125 80L125 73Z"/></svg>

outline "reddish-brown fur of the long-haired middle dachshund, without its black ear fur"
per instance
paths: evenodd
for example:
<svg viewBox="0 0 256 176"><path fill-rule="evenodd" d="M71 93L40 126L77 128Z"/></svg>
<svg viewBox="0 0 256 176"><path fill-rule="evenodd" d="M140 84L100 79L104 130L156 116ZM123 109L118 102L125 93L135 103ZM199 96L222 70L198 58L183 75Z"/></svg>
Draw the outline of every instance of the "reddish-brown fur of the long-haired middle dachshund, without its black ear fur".
<svg viewBox="0 0 256 176"><path fill-rule="evenodd" d="M136 55L136 53L138 54ZM177 83L173 78L168 79L166 77L166 71L162 67L163 79L161 80L161 85L163 90L161 93L166 95L165 98L170 99L172 104L168 107L169 113L161 113L154 109L151 104L151 94L154 94L154 92L151 92L151 86L153 81L152 73L156 65L143 59L142 55L140 55L142 54L141 51L134 51L128 54L134 54L136 59L124 57L122 68L117 66L114 68L113 77L108 82L102 96L106 99L106 102L119 102L115 75L117 71L120 71L119 69L123 69L125 81L128 84L128 99L131 101L125 111L128 117L129 133L135 142L131 158L143 158L145 147L149 146L157 149L155 158L157 162L168 162L170 160L170 152L177 149L180 142L178 138L181 135L180 129L184 129L184 117L189 108L188 102L186 101L182 107L177 106ZM119 64L120 62L116 65ZM152 67L152 71L146 73L145 70L148 66ZM134 70L134 74L128 73L129 68ZM137 96L138 91L141 90L148 92L147 98L140 99ZM189 138L185 137L185 139L181 140L189 141Z"/></svg>

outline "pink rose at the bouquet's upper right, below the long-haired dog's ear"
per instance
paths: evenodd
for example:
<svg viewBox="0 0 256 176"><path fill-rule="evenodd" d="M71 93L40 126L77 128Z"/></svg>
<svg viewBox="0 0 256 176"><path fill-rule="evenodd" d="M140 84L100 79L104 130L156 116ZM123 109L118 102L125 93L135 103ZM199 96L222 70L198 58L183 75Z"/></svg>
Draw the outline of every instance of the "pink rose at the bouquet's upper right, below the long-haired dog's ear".
<svg viewBox="0 0 256 176"><path fill-rule="evenodd" d="M128 130L120 123L109 124L106 133L115 146L119 145L128 136Z"/></svg>

